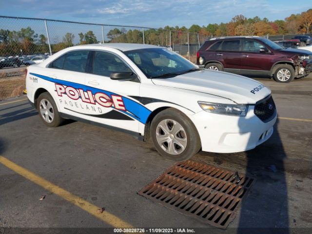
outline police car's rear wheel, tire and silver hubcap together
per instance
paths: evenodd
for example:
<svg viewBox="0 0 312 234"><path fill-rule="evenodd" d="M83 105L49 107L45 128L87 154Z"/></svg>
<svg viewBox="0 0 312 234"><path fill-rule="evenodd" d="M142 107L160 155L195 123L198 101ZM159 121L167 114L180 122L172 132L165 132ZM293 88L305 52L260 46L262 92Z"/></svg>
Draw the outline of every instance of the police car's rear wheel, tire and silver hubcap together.
<svg viewBox="0 0 312 234"><path fill-rule="evenodd" d="M49 93L42 93L37 99L37 110L41 120L49 127L58 127L64 121Z"/></svg>

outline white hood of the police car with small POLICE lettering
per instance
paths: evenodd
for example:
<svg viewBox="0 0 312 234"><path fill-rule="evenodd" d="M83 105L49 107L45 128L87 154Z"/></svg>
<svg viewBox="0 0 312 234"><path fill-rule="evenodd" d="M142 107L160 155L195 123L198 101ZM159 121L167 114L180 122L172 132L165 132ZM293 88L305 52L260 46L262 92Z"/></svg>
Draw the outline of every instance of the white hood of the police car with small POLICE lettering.
<svg viewBox="0 0 312 234"><path fill-rule="evenodd" d="M152 81L160 86L231 99L238 104L255 104L271 94L269 88L254 79L213 70L200 70L173 78L154 78Z"/></svg>

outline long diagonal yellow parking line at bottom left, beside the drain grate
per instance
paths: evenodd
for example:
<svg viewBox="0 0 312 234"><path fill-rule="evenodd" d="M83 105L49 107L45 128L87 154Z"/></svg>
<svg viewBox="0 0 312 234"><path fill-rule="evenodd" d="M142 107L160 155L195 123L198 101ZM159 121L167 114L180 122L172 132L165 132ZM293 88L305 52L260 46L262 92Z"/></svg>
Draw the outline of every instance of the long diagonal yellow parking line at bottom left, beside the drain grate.
<svg viewBox="0 0 312 234"><path fill-rule="evenodd" d="M0 163L4 166L10 168L12 171L20 174L21 176L29 179L30 181L38 184L39 186L43 187L44 189L59 195L60 197L64 198L65 200L73 203L74 205L78 206L82 210L88 212L91 215L96 216L97 218L101 219L105 223L116 227L116 228L132 228L132 226L123 221L122 219L118 218L115 215L110 214L109 212L104 211L102 214L98 213L99 207L83 200L82 198L71 194L70 192L60 188L59 186L41 178L40 176L28 171L27 169L15 164L14 162L10 161L9 159L0 156Z"/></svg>

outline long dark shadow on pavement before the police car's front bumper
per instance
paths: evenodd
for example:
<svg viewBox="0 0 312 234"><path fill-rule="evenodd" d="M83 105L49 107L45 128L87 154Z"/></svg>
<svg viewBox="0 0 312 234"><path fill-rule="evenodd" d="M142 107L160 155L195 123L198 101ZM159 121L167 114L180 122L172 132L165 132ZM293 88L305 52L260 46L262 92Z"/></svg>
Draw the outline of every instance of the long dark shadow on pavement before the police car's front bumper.
<svg viewBox="0 0 312 234"><path fill-rule="evenodd" d="M288 191L284 167L287 156L278 132L278 124L277 119L273 135L267 142L245 152L246 175L254 176L256 182L242 200L237 234L289 233Z"/></svg>

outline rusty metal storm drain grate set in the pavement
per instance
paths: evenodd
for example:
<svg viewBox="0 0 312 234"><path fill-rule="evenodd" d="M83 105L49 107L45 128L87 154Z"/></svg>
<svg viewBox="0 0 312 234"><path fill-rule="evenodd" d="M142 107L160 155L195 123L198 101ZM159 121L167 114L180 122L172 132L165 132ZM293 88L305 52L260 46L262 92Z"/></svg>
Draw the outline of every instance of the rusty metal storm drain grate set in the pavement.
<svg viewBox="0 0 312 234"><path fill-rule="evenodd" d="M189 160L175 164L138 194L225 229L255 181L234 177L234 172Z"/></svg>

